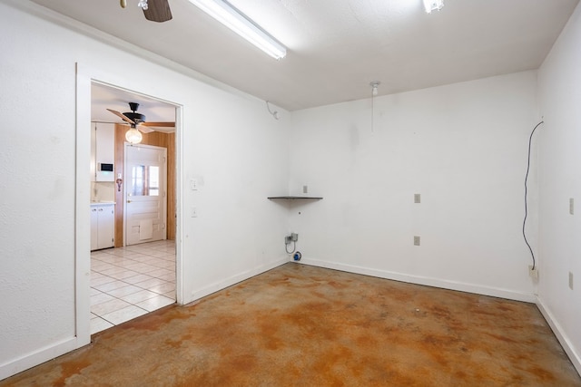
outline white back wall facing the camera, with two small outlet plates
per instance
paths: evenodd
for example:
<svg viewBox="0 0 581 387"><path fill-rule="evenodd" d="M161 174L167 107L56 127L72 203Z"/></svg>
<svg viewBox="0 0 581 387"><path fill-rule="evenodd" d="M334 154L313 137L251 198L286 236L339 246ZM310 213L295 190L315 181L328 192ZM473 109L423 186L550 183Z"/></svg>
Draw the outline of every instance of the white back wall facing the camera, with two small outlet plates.
<svg viewBox="0 0 581 387"><path fill-rule="evenodd" d="M291 193L324 197L291 205L302 262L534 301L536 87L525 72L376 97L373 128L370 99L293 112Z"/></svg>

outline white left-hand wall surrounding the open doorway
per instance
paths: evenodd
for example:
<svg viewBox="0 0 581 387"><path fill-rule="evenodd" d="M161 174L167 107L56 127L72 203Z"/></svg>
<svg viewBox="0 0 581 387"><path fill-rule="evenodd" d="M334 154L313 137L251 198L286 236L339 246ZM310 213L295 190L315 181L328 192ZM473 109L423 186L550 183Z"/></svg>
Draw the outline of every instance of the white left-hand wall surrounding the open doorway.
<svg viewBox="0 0 581 387"><path fill-rule="evenodd" d="M287 188L288 113L274 121L262 101L54 24L41 9L0 2L0 379L88 340L90 78L182 106L183 303L287 259L286 210L266 198ZM187 217L192 206L198 218ZM77 300L75 278L86 287ZM82 324L77 301L87 304Z"/></svg>

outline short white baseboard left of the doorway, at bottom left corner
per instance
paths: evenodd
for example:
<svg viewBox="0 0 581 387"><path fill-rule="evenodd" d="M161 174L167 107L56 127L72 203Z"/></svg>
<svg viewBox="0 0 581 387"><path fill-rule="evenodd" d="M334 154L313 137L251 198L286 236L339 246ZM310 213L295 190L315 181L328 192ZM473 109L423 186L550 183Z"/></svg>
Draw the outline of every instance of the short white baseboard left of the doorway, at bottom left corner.
<svg viewBox="0 0 581 387"><path fill-rule="evenodd" d="M40 348L32 353L10 360L7 363L0 364L0 381L13 376L18 372L23 372L35 365L48 362L64 353L71 352L82 347L86 343L80 343L76 337L64 339L60 342Z"/></svg>

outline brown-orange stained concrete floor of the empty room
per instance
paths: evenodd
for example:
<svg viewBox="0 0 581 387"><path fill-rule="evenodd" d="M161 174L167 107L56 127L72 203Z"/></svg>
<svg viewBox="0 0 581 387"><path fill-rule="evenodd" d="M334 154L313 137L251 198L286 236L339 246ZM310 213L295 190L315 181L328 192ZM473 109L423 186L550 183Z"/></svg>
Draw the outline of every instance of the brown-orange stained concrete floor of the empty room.
<svg viewBox="0 0 581 387"><path fill-rule="evenodd" d="M1 386L581 386L536 305L289 263Z"/></svg>

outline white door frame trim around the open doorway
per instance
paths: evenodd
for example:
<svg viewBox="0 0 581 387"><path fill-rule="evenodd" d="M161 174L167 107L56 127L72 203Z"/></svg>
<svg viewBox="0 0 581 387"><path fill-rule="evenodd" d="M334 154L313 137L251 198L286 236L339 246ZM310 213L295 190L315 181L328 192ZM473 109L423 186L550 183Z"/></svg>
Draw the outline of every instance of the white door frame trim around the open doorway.
<svg viewBox="0 0 581 387"><path fill-rule="evenodd" d="M113 70L112 70L113 71ZM153 95L132 90L131 73L123 75L123 69L112 73L94 68L86 63L75 63L75 199L74 199L74 343L70 343L65 352L91 343L91 85L92 83L141 94L175 107L175 195L176 195L176 299L183 304L183 260L182 260L182 170L183 141L182 118L183 105L179 102L163 100ZM128 83L129 82L129 83Z"/></svg>

